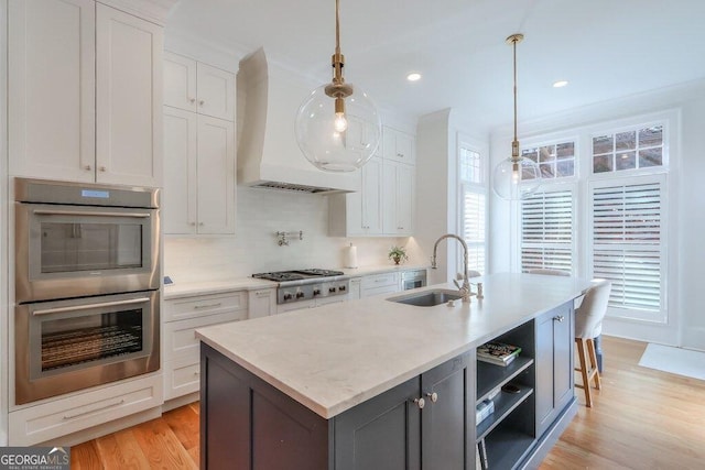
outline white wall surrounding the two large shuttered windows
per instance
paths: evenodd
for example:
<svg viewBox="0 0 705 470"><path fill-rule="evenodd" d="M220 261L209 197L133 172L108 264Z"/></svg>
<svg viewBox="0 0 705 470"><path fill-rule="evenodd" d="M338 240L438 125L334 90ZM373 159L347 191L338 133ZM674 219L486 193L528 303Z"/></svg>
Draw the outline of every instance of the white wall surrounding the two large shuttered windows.
<svg viewBox="0 0 705 470"><path fill-rule="evenodd" d="M668 308L665 326L647 326L608 319L604 332L646 341L705 349L705 310L698 289L705 281L705 80L653 90L572 110L545 119L519 124L520 141L545 133L586 127L622 118L675 110L681 116L681 132L671 152L669 176L671 207L669 220ZM494 164L510 153L511 129L496 130L490 147ZM490 258L492 272L510 271L517 265L516 233L511 227L512 206L492 195L490 218ZM514 247L508 250L507 247ZM583 266L585 271L585 266ZM585 275L584 273L582 273Z"/></svg>

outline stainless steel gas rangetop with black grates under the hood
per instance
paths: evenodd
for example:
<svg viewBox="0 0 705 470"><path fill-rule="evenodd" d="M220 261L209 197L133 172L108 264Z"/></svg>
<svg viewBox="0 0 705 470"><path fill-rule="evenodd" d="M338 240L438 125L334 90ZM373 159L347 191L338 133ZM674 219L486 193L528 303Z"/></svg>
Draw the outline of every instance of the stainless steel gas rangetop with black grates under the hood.
<svg viewBox="0 0 705 470"><path fill-rule="evenodd" d="M279 283L276 304L346 296L350 291L350 276L340 271L297 270L252 274L252 277Z"/></svg>

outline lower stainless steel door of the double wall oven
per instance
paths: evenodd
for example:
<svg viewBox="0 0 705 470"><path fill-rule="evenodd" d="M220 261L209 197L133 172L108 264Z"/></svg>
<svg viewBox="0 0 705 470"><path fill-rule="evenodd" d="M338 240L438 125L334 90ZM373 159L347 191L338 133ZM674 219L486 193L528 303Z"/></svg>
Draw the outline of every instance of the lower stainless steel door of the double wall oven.
<svg viewBox="0 0 705 470"><path fill-rule="evenodd" d="M14 310L18 405L160 368L159 291Z"/></svg>

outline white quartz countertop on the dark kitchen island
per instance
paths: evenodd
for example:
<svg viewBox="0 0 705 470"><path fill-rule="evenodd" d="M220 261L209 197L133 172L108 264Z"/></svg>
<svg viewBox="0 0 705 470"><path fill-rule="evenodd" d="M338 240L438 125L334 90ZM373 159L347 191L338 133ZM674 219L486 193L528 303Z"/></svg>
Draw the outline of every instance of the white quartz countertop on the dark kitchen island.
<svg viewBox="0 0 705 470"><path fill-rule="evenodd" d="M389 302L414 291L196 330L230 360L324 418L351 408L581 296L589 281L476 277L485 298L435 307ZM423 287L454 289L452 284Z"/></svg>

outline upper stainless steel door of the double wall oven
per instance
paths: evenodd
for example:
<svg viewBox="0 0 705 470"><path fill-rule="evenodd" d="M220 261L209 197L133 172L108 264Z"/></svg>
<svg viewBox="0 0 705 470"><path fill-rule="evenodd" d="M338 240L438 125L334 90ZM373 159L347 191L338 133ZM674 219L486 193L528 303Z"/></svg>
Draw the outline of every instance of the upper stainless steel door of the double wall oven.
<svg viewBox="0 0 705 470"><path fill-rule="evenodd" d="M15 203L15 302L159 288L159 209Z"/></svg>

